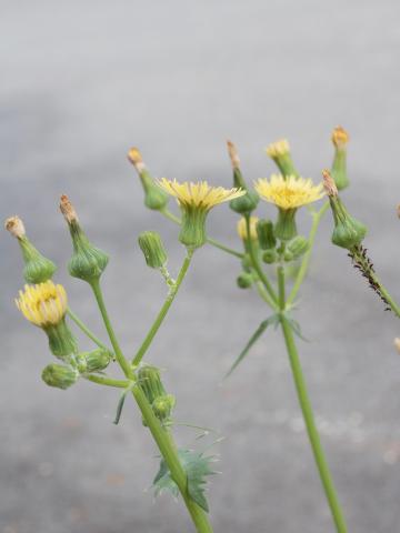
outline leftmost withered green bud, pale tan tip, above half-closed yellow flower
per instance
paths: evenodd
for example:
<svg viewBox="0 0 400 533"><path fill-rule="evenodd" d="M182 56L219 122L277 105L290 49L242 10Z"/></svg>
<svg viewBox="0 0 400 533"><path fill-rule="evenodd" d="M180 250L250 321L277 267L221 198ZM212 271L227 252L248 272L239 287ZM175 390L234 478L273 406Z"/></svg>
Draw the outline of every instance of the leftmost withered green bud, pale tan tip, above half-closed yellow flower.
<svg viewBox="0 0 400 533"><path fill-rule="evenodd" d="M4 227L18 240L21 248L24 262L24 280L28 283L42 283L50 280L57 266L50 259L44 258L30 242L22 220L19 217L11 217L6 220Z"/></svg>

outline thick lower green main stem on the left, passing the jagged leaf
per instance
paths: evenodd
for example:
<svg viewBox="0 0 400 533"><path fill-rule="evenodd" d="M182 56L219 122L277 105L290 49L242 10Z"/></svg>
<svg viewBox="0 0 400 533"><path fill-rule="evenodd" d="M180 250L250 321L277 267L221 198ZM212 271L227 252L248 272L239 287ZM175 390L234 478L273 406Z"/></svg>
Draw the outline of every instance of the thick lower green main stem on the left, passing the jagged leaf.
<svg viewBox="0 0 400 533"><path fill-rule="evenodd" d="M182 494L184 504L192 517L198 533L212 533L212 527L204 511L191 500L188 494L187 474L179 461L177 446L170 433L162 428L159 420L154 415L144 393L140 386L132 390L134 400L137 401L142 416L171 472L173 481L177 483L179 492Z"/></svg>

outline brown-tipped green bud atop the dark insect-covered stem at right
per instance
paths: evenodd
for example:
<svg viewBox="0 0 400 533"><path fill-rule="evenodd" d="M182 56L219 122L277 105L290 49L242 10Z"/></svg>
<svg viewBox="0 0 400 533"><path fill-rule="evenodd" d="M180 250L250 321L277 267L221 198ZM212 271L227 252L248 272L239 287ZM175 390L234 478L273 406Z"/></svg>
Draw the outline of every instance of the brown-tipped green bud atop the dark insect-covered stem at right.
<svg viewBox="0 0 400 533"><path fill-rule="evenodd" d="M361 243L367 234L367 227L350 215L343 202L338 195L338 189L328 170L322 172L323 187L329 197L332 210L334 229L332 243L337 247L351 250Z"/></svg>

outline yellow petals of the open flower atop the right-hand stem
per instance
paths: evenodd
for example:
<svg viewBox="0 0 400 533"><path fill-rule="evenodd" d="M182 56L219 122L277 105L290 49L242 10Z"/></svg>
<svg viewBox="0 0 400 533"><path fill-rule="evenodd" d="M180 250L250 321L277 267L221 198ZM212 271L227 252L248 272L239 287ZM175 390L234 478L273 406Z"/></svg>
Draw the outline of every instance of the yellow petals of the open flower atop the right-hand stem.
<svg viewBox="0 0 400 533"><path fill-rule="evenodd" d="M268 180L261 178L254 183L256 191L268 202L281 209L294 209L316 202L324 195L323 185L314 185L311 180L288 175L272 174Z"/></svg>

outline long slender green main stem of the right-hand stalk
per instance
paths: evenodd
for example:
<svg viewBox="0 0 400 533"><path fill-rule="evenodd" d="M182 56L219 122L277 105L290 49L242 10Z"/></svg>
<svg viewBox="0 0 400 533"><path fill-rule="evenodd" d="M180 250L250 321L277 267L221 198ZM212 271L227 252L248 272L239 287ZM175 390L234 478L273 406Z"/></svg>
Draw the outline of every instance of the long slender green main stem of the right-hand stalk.
<svg viewBox="0 0 400 533"><path fill-rule="evenodd" d="M318 472L320 474L322 486L332 513L337 532L347 533L347 525L344 522L344 517L340 507L340 503L333 485L332 476L323 453L322 444L321 444L320 436L314 422L312 406L307 392L306 380L302 373L300 358L299 358L296 342L294 342L294 336L293 336L290 323L288 322L288 319L284 315L284 310L286 310L284 271L282 266L278 268L278 280L279 280L280 288L282 286L282 289L280 289L279 291L280 309L281 309L281 328L282 328L282 333L283 333L286 346L289 354L290 366L293 374L293 380L294 380L299 403L304 418L307 433L310 440L310 444L311 444L311 449L317 463Z"/></svg>

